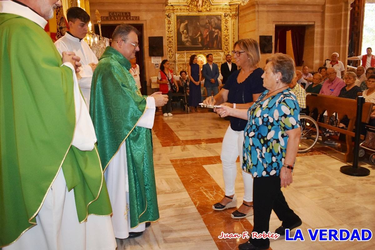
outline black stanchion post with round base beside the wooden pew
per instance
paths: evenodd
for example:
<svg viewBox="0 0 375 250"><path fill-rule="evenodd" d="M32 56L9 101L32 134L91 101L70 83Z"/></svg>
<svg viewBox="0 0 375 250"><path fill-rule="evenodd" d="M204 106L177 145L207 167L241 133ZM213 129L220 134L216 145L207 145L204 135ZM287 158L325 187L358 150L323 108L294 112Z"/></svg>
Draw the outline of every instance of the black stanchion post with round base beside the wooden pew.
<svg viewBox="0 0 375 250"><path fill-rule="evenodd" d="M357 97L357 117L356 117L356 134L354 136L354 159L353 166L345 165L340 168L340 172L351 176L368 176L370 170L367 168L358 166L358 151L359 151L359 139L361 136L361 118L362 118L362 106L365 103L363 96Z"/></svg>

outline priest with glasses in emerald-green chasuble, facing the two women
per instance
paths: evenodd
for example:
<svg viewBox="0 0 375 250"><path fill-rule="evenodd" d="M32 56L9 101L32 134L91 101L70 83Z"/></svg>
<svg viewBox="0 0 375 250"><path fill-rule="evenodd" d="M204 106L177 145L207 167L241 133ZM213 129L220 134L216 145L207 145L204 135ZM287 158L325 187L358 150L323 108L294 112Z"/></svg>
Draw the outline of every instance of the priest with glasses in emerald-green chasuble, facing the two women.
<svg viewBox="0 0 375 250"><path fill-rule="evenodd" d="M136 237L145 222L159 219L151 128L155 107L165 105L160 92L142 96L129 60L139 51L138 31L118 25L111 46L99 58L93 75L90 115L113 208L115 237Z"/></svg>

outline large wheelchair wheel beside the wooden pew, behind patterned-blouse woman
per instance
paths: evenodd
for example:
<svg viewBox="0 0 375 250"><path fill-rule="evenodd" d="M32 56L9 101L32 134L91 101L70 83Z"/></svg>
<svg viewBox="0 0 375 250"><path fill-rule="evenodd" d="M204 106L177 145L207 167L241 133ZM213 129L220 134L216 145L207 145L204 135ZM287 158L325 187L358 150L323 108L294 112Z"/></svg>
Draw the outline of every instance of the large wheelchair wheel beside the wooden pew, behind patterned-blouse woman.
<svg viewBox="0 0 375 250"><path fill-rule="evenodd" d="M301 139L298 147L299 153L309 151L314 147L319 138L319 127L317 122L308 115L300 116L301 122Z"/></svg>

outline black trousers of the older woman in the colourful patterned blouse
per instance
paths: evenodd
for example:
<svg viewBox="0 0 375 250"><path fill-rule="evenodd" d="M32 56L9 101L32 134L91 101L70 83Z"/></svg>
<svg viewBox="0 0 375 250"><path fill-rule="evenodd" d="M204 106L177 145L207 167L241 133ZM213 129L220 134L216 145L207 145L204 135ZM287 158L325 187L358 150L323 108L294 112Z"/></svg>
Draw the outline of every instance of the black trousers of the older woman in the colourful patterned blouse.
<svg viewBox="0 0 375 250"><path fill-rule="evenodd" d="M254 201L254 228L252 232L263 233L270 231L270 216L275 211L282 226L289 227L299 221L297 214L293 212L285 201L281 192L280 177L255 177L253 187ZM257 247L269 247L270 240L253 239L250 235L251 244Z"/></svg>

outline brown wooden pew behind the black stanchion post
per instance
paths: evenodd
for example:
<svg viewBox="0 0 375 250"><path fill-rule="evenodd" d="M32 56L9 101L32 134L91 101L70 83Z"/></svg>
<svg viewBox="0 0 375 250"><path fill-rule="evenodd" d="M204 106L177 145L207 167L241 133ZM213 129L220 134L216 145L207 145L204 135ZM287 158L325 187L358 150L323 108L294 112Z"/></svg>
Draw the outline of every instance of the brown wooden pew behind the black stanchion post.
<svg viewBox="0 0 375 250"><path fill-rule="evenodd" d="M363 104L362 110L362 117L361 121L363 123L368 123L372 111L371 102L365 102ZM353 161L353 142L352 137L354 137L355 133L353 132L354 125L356 123L356 115L357 115L357 100L353 99L346 99L336 96L326 96L321 94L312 94L306 97L306 106L309 107L310 114L311 112L317 108L318 109L318 118L317 123L320 128L327 128L333 131L340 132L341 134L345 135L345 142L339 141L341 143L342 151L345 152L345 162L352 162ZM319 122L319 118L324 111L327 111L328 117L330 117L333 113L338 114L338 124L340 123L340 119L347 115L350 119L348 124L348 130L340 129L337 126L329 125L329 119L327 119L326 123ZM363 139L363 136L361 136ZM336 141L336 140L335 140Z"/></svg>

